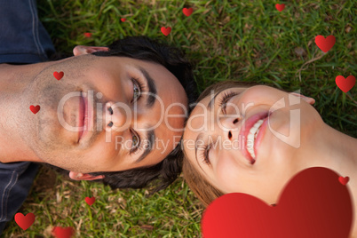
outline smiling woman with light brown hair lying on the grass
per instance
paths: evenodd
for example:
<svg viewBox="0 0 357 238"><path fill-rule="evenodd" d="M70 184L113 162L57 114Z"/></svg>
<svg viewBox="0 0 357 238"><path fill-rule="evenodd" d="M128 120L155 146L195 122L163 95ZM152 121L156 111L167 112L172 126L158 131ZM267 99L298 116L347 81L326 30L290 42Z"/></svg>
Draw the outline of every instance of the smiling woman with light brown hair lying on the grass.
<svg viewBox="0 0 357 238"><path fill-rule="evenodd" d="M357 139L323 123L313 103L298 93L248 83L206 89L183 136L187 184L205 206L234 192L274 204L299 171L326 167L350 178L357 207Z"/></svg>

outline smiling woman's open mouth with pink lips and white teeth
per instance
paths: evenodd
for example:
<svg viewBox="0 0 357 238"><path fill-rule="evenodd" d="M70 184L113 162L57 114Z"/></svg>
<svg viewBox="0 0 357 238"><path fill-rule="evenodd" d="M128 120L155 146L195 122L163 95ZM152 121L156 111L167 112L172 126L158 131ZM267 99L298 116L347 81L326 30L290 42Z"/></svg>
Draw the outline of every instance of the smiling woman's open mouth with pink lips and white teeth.
<svg viewBox="0 0 357 238"><path fill-rule="evenodd" d="M258 147L266 131L268 112L258 113L250 116L242 125L240 138L243 139L241 152L251 164L257 160Z"/></svg>

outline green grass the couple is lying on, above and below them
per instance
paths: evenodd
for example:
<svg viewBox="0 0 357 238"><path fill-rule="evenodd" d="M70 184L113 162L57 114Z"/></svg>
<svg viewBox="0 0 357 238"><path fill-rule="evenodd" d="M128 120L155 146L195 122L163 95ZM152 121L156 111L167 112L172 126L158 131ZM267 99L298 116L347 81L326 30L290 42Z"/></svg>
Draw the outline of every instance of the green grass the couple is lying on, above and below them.
<svg viewBox="0 0 357 238"><path fill-rule="evenodd" d="M357 85L344 93L335 83L337 75L357 77L353 0L282 1L282 12L275 1L37 2L58 52L71 54L76 44L103 46L123 36L161 38L192 59L200 91L226 79L301 90L316 99L314 107L326 123L357 137ZM186 17L183 7L193 7L193 14ZM171 34L163 36L162 27L171 27ZM314 43L318 35L336 36L326 54ZM86 196L97 202L88 206ZM42 170L21 212L35 213L35 224L23 231L12 221L4 237L48 237L52 226L75 227L77 237L201 236L202 208L182 178L147 197L146 189L113 192Z"/></svg>

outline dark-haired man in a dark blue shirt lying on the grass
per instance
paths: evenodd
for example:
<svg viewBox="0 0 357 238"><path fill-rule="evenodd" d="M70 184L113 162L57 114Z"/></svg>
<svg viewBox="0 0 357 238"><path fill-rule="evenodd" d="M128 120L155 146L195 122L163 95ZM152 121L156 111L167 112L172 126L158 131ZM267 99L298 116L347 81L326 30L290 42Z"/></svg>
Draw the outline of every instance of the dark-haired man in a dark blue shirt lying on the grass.
<svg viewBox="0 0 357 238"><path fill-rule="evenodd" d="M0 1L0 233L25 200L35 163L114 188L157 178L157 189L169 186L194 101L182 53L146 37L76 46L74 57L48 61L54 49L35 3Z"/></svg>

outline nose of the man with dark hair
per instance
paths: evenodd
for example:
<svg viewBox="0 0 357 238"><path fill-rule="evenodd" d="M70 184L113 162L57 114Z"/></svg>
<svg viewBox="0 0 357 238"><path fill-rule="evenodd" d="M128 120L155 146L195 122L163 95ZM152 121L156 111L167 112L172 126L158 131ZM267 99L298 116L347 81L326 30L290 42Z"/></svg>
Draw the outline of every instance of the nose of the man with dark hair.
<svg viewBox="0 0 357 238"><path fill-rule="evenodd" d="M131 108L123 102L107 102L105 116L107 131L125 131L131 125Z"/></svg>

